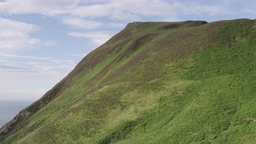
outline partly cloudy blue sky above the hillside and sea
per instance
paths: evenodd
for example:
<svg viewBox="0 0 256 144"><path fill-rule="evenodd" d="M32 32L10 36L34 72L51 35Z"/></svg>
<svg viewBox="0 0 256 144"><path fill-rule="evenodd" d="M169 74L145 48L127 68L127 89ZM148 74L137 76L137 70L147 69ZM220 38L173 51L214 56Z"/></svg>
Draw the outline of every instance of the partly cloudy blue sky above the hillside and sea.
<svg viewBox="0 0 256 144"><path fill-rule="evenodd" d="M0 0L0 101L36 101L135 21L256 19L254 0Z"/></svg>

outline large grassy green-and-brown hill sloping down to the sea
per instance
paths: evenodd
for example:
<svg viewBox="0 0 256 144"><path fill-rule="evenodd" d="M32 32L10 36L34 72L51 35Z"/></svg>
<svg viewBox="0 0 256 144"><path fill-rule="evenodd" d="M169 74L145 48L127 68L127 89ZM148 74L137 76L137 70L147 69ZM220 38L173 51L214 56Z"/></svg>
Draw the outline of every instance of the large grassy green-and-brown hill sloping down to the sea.
<svg viewBox="0 0 256 144"><path fill-rule="evenodd" d="M135 22L0 129L2 144L256 143L256 22Z"/></svg>

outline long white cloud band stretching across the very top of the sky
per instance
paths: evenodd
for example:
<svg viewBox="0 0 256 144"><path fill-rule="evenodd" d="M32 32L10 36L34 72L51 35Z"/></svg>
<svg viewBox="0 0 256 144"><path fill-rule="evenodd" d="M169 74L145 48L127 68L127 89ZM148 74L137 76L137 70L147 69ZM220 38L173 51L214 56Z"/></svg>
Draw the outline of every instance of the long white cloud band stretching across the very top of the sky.
<svg viewBox="0 0 256 144"><path fill-rule="evenodd" d="M107 16L114 20L128 21L138 20L141 16L168 18L182 14L233 13L225 2L212 5L165 0L5 0L0 3L0 11L8 14L38 13L46 16L65 14L87 18ZM70 21L67 23L85 28Z"/></svg>

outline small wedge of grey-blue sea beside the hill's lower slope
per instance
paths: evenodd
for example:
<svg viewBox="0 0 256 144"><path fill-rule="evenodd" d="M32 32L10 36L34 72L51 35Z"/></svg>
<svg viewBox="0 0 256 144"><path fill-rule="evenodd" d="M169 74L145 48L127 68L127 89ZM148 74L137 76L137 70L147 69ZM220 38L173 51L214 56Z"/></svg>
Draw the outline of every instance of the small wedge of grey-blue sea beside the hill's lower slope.
<svg viewBox="0 0 256 144"><path fill-rule="evenodd" d="M0 128L33 101L0 101Z"/></svg>

